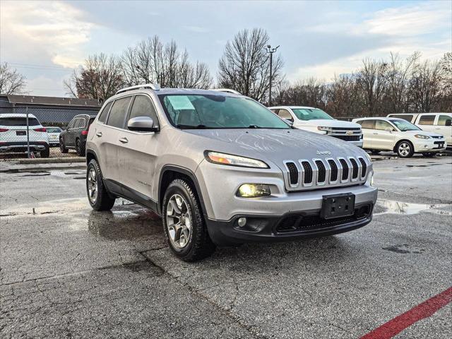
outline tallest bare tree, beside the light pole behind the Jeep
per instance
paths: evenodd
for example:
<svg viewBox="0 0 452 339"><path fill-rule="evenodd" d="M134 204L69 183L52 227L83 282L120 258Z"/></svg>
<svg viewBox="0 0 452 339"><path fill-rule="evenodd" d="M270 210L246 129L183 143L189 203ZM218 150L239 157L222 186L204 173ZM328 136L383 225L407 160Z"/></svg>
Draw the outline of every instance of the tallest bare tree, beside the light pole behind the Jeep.
<svg viewBox="0 0 452 339"><path fill-rule="evenodd" d="M270 83L270 63L264 48L268 34L261 28L242 30L228 41L218 63L218 85L265 102ZM283 59L273 59L272 85L283 80Z"/></svg>

